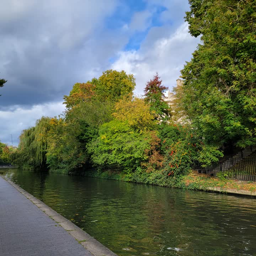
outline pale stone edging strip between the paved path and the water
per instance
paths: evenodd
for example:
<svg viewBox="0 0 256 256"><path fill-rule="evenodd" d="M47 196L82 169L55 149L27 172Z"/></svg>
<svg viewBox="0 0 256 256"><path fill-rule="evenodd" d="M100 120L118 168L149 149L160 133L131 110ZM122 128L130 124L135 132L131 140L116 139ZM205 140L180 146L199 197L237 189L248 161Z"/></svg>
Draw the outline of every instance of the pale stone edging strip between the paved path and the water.
<svg viewBox="0 0 256 256"><path fill-rule="evenodd" d="M18 192L23 194L28 200L30 200L33 204L35 204L42 212L48 215L49 218L53 219L59 226L62 226L69 235L73 236L79 244L85 247L86 250L91 252L94 256L117 256L114 252L108 249L105 245L101 244L95 238L87 234L84 230L80 229L74 223L70 222L68 219L60 215L59 213L55 212L52 208L47 206L41 200L37 199L36 197L32 196L32 194L28 193L27 191L23 190L20 186L15 184L9 179L6 179L4 176L0 175L4 178L7 182L10 183Z"/></svg>

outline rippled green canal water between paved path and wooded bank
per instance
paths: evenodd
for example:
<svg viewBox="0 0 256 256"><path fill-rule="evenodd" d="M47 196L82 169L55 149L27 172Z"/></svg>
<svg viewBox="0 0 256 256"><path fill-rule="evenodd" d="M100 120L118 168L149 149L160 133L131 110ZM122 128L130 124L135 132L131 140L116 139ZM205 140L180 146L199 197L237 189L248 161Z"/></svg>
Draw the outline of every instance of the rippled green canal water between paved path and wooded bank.
<svg viewBox="0 0 256 256"><path fill-rule="evenodd" d="M4 175L118 255L256 255L253 198L17 169Z"/></svg>

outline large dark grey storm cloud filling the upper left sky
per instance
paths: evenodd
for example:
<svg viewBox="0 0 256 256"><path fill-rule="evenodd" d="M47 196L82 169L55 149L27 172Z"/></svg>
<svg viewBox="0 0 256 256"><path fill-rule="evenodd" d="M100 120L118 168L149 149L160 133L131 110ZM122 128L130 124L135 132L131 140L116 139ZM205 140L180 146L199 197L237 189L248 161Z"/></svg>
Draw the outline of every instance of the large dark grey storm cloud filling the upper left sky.
<svg viewBox="0 0 256 256"><path fill-rule="evenodd" d="M122 43L104 31L116 1L9 0L0 9L0 107L60 101L107 66Z"/></svg>

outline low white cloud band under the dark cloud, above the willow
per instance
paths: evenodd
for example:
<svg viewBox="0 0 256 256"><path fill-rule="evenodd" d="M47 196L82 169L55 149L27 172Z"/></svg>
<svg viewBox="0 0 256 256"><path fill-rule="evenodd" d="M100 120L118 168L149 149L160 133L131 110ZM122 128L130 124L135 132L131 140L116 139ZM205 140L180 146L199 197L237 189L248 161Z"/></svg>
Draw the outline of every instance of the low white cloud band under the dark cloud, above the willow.
<svg viewBox="0 0 256 256"><path fill-rule="evenodd" d="M30 108L17 106L13 111L0 111L0 140L11 145L11 134L14 145L18 145L18 137L23 129L34 126L42 116L58 116L65 109L62 102L34 105Z"/></svg>

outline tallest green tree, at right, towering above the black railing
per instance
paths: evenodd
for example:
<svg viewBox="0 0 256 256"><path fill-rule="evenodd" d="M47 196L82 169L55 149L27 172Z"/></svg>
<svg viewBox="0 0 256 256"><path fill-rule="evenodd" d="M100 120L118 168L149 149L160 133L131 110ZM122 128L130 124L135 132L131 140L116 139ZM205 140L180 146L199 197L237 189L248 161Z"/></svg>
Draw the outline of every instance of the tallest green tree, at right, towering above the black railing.
<svg viewBox="0 0 256 256"><path fill-rule="evenodd" d="M256 144L256 2L189 3L185 19L203 44L181 71L181 104L202 148L215 158L229 146Z"/></svg>

